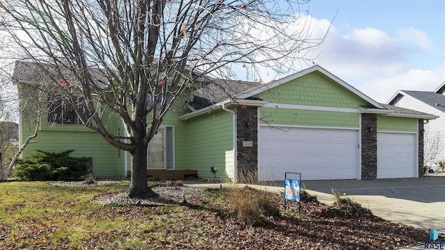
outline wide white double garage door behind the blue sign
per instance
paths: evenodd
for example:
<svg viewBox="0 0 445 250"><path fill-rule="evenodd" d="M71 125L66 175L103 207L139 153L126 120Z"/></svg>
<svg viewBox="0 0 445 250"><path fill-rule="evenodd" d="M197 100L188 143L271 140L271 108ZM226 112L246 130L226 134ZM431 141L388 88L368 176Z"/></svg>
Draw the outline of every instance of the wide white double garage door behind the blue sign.
<svg viewBox="0 0 445 250"><path fill-rule="evenodd" d="M259 131L261 181L283 181L284 172L303 180L355 179L359 167L357 130L271 128Z"/></svg>

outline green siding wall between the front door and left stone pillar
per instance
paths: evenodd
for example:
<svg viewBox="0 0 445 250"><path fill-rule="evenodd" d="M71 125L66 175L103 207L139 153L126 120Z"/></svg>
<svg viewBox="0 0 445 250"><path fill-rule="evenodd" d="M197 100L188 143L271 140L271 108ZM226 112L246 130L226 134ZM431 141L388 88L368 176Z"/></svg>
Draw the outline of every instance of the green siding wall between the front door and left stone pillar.
<svg viewBox="0 0 445 250"><path fill-rule="evenodd" d="M188 169L196 169L200 178L224 181L233 175L233 115L213 112L186 121ZM210 167L217 167L216 174Z"/></svg>

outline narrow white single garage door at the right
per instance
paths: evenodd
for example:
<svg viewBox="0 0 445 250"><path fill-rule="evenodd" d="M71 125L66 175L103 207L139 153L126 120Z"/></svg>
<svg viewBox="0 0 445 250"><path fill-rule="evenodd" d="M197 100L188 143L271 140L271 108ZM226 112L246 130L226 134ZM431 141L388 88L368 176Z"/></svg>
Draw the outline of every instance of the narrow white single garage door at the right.
<svg viewBox="0 0 445 250"><path fill-rule="evenodd" d="M416 135L377 133L377 178L417 177Z"/></svg>

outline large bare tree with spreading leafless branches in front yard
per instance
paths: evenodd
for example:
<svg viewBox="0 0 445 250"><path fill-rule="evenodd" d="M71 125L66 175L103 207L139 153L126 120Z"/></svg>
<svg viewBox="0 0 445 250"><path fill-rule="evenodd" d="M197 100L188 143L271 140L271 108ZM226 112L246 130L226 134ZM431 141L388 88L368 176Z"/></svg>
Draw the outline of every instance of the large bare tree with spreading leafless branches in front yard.
<svg viewBox="0 0 445 250"><path fill-rule="evenodd" d="M305 0L303 0L305 1ZM306 2L306 1L305 1ZM131 153L129 195L147 187L147 143L173 101L207 76L233 78L235 67L289 72L324 39L309 39L300 3L277 0L0 1L8 33L27 58L51 69L74 105L81 92L85 126ZM49 65L49 66L47 66ZM99 71L97 69L100 69ZM70 86L70 88L68 88ZM66 87L66 88L65 88ZM108 131L97 105L113 110L127 140ZM92 122L90 120L92 120Z"/></svg>

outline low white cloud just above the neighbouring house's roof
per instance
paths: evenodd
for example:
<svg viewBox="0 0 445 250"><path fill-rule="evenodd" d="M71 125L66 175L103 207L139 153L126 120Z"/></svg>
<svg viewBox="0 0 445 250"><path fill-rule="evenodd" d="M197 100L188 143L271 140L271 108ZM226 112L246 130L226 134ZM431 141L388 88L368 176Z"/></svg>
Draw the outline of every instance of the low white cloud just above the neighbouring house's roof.
<svg viewBox="0 0 445 250"><path fill-rule="evenodd" d="M360 85L358 90L386 103L398 90L434 91L445 80L445 63L434 70L409 69L387 78L375 78Z"/></svg>

